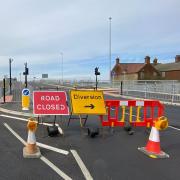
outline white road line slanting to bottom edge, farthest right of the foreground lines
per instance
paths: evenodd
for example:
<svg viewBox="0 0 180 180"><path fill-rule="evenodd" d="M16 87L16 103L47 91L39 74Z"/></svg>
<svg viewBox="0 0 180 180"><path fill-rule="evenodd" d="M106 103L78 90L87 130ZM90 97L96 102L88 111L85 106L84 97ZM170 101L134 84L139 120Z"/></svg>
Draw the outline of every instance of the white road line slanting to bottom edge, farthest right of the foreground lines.
<svg viewBox="0 0 180 180"><path fill-rule="evenodd" d="M89 173L88 169L86 168L85 164L83 163L83 161L81 160L80 156L78 155L76 150L70 150L72 155L74 156L76 162L78 163L84 177L86 180L93 180L91 174Z"/></svg>

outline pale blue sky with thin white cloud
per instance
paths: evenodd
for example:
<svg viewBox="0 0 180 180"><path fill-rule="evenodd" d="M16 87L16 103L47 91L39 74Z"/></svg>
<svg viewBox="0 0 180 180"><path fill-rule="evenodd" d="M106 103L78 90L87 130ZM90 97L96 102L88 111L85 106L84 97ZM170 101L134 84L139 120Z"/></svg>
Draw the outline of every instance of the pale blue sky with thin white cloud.
<svg viewBox="0 0 180 180"><path fill-rule="evenodd" d="M0 77L19 77L28 62L30 76L65 79L109 77L109 20L112 17L112 66L159 62L180 54L179 0L0 0Z"/></svg>

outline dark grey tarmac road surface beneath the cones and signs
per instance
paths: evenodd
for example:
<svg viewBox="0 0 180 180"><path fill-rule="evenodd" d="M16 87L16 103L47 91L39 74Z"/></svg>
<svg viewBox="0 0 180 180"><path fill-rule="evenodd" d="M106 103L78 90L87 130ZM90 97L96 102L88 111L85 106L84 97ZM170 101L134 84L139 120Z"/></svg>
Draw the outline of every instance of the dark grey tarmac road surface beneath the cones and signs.
<svg viewBox="0 0 180 180"><path fill-rule="evenodd" d="M105 95L105 99L120 99L120 97ZM168 159L151 159L138 151L137 148L145 146L149 137L144 127L133 128L135 133L132 136L129 136L123 128L114 128L114 133L111 129L104 128L103 131L100 129L99 136L90 138L87 136L87 129L80 127L79 120L71 120L70 126L67 126L69 116L57 116L56 123L63 129L64 135L49 137L47 126L39 125L36 132L38 142L68 151L68 155L64 155L40 148L43 157L56 167L54 169L54 166L49 166L48 161L45 163L44 159L24 159L22 156L24 145L4 125L4 123L9 125L26 140L26 120L33 115L32 106L29 111L24 112L20 101L12 101L1 104L0 111L0 179L67 179L60 173L62 171L71 179L77 180L91 178L179 180L180 107L178 106L165 105L165 115L172 127L161 131L160 138L162 150L170 155ZM54 116L42 118L47 123L54 120ZM95 128L99 127L99 124L99 117L92 115L88 117L86 127ZM77 161L73 150L78 153L85 169L79 166L80 161Z"/></svg>

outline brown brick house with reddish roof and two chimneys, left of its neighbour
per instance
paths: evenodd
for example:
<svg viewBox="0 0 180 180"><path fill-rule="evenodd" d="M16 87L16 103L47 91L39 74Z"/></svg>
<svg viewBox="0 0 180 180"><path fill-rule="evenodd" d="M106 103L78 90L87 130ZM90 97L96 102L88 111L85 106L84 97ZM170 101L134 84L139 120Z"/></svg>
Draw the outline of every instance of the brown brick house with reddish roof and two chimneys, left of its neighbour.
<svg viewBox="0 0 180 180"><path fill-rule="evenodd" d="M144 63L120 63L116 58L116 64L111 71L112 80L148 80L160 79L161 73L150 63L150 57L145 57Z"/></svg>

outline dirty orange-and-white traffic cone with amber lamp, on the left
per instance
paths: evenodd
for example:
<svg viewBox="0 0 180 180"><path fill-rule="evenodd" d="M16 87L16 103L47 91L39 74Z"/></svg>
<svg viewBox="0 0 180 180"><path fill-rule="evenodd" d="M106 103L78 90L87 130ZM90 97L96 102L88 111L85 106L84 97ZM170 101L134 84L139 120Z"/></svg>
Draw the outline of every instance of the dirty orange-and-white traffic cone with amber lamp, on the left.
<svg viewBox="0 0 180 180"><path fill-rule="evenodd" d="M37 129L37 122L33 118L30 118L27 124L28 128L28 139L27 145L23 148L23 157L24 158L39 158L41 152L36 145L36 136L35 131Z"/></svg>

